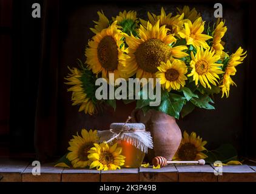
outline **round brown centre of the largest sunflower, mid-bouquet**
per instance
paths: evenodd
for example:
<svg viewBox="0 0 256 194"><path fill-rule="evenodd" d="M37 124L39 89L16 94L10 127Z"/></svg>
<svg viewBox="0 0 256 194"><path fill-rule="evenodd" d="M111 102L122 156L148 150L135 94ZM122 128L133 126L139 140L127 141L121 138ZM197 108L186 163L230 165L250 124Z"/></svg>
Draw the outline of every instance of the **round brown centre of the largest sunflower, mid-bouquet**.
<svg viewBox="0 0 256 194"><path fill-rule="evenodd" d="M160 39L149 39L141 44L135 52L138 66L146 72L155 73L161 62L170 58L170 47Z"/></svg>

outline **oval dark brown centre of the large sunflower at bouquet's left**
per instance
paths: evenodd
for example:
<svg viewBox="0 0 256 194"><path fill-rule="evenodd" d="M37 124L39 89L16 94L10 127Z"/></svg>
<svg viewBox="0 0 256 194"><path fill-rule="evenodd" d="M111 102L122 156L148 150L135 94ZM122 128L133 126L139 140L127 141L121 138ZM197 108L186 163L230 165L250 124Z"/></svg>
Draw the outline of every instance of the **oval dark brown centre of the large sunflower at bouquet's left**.
<svg viewBox="0 0 256 194"><path fill-rule="evenodd" d="M117 69L118 47L112 36L105 36L98 44L97 54L99 63L108 71Z"/></svg>

